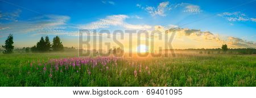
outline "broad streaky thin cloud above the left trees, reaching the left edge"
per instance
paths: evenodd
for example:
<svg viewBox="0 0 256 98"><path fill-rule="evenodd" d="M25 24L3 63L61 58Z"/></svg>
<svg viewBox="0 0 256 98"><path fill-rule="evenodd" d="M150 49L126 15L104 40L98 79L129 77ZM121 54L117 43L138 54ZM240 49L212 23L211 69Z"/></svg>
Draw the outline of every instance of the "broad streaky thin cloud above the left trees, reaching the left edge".
<svg viewBox="0 0 256 98"><path fill-rule="evenodd" d="M63 15L44 15L27 21L0 24L0 32L6 35L9 33L55 34L67 28L69 19L69 16Z"/></svg>

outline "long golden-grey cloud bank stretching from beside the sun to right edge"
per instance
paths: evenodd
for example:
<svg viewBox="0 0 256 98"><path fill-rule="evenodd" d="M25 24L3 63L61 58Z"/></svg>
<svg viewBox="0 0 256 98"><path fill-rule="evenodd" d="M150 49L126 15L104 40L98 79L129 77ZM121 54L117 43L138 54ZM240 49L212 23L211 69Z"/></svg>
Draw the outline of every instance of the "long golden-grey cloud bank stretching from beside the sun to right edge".
<svg viewBox="0 0 256 98"><path fill-rule="evenodd" d="M246 41L237 37L219 37L211 32L202 32L198 29L171 28L166 30L166 33L174 32L176 32L177 38L186 37L200 42L228 44L231 48L256 48L256 43L252 41Z"/></svg>

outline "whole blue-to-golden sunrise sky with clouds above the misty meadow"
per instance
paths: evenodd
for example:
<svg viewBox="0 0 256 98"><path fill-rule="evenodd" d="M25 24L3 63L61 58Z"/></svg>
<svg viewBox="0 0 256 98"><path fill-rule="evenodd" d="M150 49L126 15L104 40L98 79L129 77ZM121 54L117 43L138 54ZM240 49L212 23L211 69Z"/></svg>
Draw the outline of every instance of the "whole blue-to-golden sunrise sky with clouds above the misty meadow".
<svg viewBox="0 0 256 98"><path fill-rule="evenodd" d="M168 43L157 35L138 37L138 31L158 30L161 37L175 34L172 48L218 48L222 44L256 48L255 10L255 0L0 0L0 44L5 44L11 33L15 47L34 46L46 35L50 39L60 36L66 47L79 47L79 30L89 29L96 30L99 34L95 36L103 37L104 43L119 47L113 37L100 34L100 30L109 30L112 36L115 30L135 30L137 33L125 33L118 39L125 50L137 50L144 44L157 50ZM99 42L90 44L92 47Z"/></svg>

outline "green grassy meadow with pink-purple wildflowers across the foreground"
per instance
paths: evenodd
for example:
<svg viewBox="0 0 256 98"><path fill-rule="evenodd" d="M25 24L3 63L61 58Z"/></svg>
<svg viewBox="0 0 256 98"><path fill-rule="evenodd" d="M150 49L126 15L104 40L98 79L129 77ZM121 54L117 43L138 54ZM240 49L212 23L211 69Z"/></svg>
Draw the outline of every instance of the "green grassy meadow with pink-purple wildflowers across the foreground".
<svg viewBox="0 0 256 98"><path fill-rule="evenodd" d="M256 86L256 55L0 54L0 86Z"/></svg>

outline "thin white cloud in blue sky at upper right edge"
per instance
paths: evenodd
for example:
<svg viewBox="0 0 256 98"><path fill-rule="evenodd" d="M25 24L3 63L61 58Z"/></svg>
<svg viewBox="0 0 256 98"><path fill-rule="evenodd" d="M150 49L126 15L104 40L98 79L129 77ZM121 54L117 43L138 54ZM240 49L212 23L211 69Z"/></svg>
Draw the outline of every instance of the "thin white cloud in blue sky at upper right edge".
<svg viewBox="0 0 256 98"><path fill-rule="evenodd" d="M240 11L237 12L223 12L222 14L218 14L218 16L224 17L228 21L253 21L256 22L254 18L249 18L245 14Z"/></svg>

